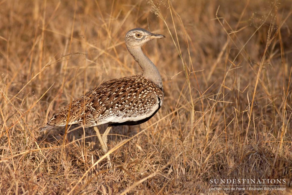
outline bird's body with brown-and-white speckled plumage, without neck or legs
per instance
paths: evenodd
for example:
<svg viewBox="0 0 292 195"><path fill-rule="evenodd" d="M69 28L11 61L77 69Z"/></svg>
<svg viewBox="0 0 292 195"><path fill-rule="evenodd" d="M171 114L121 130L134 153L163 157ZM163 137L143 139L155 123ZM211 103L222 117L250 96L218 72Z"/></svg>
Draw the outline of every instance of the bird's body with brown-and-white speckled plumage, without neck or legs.
<svg viewBox="0 0 292 195"><path fill-rule="evenodd" d="M140 124L158 111L163 99L163 89L142 75L110 80L62 108L42 131L65 126L68 113L69 125Z"/></svg>

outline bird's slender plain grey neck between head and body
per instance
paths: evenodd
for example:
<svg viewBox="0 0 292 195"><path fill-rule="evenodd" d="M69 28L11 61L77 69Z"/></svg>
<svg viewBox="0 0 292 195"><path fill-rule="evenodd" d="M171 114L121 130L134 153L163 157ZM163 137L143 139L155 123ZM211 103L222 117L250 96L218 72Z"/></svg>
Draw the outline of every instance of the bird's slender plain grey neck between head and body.
<svg viewBox="0 0 292 195"><path fill-rule="evenodd" d="M158 85L159 88L163 89L161 76L154 63L143 53L140 47L127 46L128 51L133 56L135 61L140 65L143 73L142 76L146 79L151 80Z"/></svg>

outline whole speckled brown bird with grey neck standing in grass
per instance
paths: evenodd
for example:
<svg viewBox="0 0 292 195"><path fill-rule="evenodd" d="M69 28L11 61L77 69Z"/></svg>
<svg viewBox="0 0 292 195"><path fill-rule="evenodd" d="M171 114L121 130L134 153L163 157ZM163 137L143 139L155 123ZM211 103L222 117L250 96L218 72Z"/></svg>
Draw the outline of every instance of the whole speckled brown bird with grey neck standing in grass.
<svg viewBox="0 0 292 195"><path fill-rule="evenodd" d="M93 127L105 155L108 152L107 135L113 126L139 125L161 108L164 100L161 75L141 49L148 41L161 38L165 36L143 28L129 30L125 36L126 48L140 65L142 75L113 79L98 85L55 113L40 131L76 124ZM102 124L108 126L101 135L97 126ZM109 155L106 158L111 166Z"/></svg>

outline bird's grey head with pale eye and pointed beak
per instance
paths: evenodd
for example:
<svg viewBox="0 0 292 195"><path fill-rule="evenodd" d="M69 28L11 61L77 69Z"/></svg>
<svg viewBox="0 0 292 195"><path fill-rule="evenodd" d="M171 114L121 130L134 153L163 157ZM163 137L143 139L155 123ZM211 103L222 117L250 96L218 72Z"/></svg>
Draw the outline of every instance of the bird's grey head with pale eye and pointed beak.
<svg viewBox="0 0 292 195"><path fill-rule="evenodd" d="M161 38L165 38L165 36L162 34L153 34L143 28L134 28L126 33L125 42L126 46L141 47L151 39Z"/></svg>

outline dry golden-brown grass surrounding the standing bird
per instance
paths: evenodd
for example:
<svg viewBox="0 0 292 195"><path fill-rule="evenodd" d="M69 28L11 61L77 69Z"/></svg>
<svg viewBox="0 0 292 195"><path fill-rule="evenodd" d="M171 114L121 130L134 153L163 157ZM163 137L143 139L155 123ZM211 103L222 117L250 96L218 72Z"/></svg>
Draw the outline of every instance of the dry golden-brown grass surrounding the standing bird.
<svg viewBox="0 0 292 195"><path fill-rule="evenodd" d="M285 179L260 192L288 192L291 13L288 0L0 1L0 193L207 194L210 179L234 178ZM124 45L134 27L167 37L143 48L164 106L113 128L107 170L92 128L39 128L101 82L140 74Z"/></svg>

